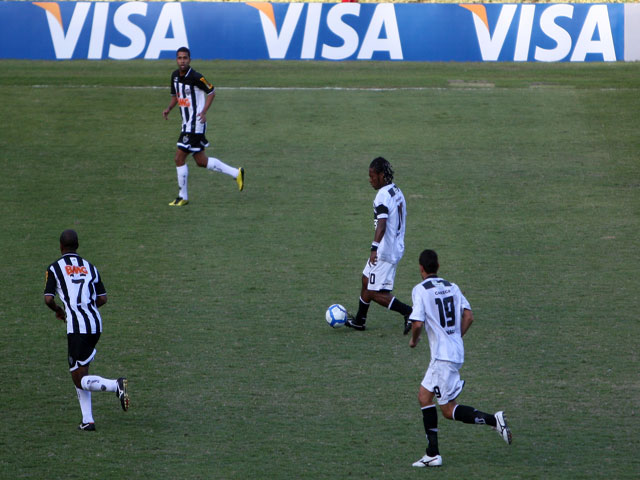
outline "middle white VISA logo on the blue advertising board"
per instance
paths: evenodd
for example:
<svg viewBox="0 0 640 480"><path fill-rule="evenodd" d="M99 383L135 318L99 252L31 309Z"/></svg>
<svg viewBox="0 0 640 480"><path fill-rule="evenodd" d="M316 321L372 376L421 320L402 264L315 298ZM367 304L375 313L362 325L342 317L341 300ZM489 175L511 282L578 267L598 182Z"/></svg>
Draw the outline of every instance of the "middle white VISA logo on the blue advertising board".
<svg viewBox="0 0 640 480"><path fill-rule="evenodd" d="M296 55L299 53L299 57L296 56L296 58L315 59L316 51L320 48L320 58L326 60L344 60L356 52L358 60L371 60L374 52L386 52L391 60L403 59L395 6L391 3L381 3L376 6L363 38L360 38L358 32L344 20L345 16L360 16L359 3L335 4L329 7L325 16L322 15L322 9L326 4L290 3L279 27L276 24L271 3L247 3L247 5L260 12L260 22L270 59L286 57L305 7L304 38L300 52L295 52ZM339 37L341 45L323 43L318 47L321 23Z"/></svg>

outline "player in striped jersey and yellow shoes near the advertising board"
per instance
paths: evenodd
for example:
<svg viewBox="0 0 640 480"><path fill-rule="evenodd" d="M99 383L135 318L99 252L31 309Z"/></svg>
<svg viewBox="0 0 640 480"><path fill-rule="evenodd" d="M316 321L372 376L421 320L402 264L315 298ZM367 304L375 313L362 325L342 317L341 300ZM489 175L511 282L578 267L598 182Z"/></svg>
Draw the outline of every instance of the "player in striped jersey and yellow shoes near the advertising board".
<svg viewBox="0 0 640 480"><path fill-rule="evenodd" d="M178 197L169 205L182 207L189 203L189 153L193 154L199 167L235 178L240 191L244 189L244 168L230 167L217 158L207 157L204 150L209 142L204 135L207 132L207 111L216 96L215 88L202 74L191 68L191 52L187 47L178 49L176 62L178 69L171 74L171 101L162 116L166 120L173 107L180 107L182 131L178 137L175 156L179 191Z"/></svg>

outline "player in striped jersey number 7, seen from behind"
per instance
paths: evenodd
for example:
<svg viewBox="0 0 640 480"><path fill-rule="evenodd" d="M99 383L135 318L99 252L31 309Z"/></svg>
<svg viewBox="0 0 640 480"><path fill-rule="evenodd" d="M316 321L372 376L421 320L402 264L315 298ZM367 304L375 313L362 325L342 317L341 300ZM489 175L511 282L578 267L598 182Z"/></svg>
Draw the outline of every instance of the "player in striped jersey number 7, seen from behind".
<svg viewBox="0 0 640 480"><path fill-rule="evenodd" d="M82 422L79 430L95 431L91 409L91 392L115 392L122 409L129 409L127 379L109 380L89 375L89 364L96 356L95 346L102 333L98 308L107 303L107 292L96 267L76 253L78 234L65 230L60 235L60 253L46 273L44 303L56 317L67 323L69 371L76 386ZM60 296L64 309L56 304Z"/></svg>

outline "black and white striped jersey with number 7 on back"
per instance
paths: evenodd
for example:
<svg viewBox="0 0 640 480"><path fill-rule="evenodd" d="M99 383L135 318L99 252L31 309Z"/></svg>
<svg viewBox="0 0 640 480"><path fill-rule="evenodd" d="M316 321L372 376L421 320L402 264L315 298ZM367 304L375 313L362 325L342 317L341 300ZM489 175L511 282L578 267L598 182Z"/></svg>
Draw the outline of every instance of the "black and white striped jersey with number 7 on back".
<svg viewBox="0 0 640 480"><path fill-rule="evenodd" d="M45 295L56 293L64 303L67 333L101 333L96 298L106 295L98 269L75 253L67 253L47 268Z"/></svg>

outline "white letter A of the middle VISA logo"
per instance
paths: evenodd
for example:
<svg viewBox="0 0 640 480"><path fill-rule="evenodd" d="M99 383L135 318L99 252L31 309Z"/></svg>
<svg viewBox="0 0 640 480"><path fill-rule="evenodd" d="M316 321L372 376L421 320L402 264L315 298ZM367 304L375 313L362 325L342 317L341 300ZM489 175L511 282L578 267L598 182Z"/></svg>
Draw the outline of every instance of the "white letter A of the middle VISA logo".
<svg viewBox="0 0 640 480"><path fill-rule="evenodd" d="M387 38L380 38L383 27ZM358 59L371 60L375 51L389 52L389 57L392 60L402 60L403 58L396 10L392 3L381 3L376 7L362 41Z"/></svg>

